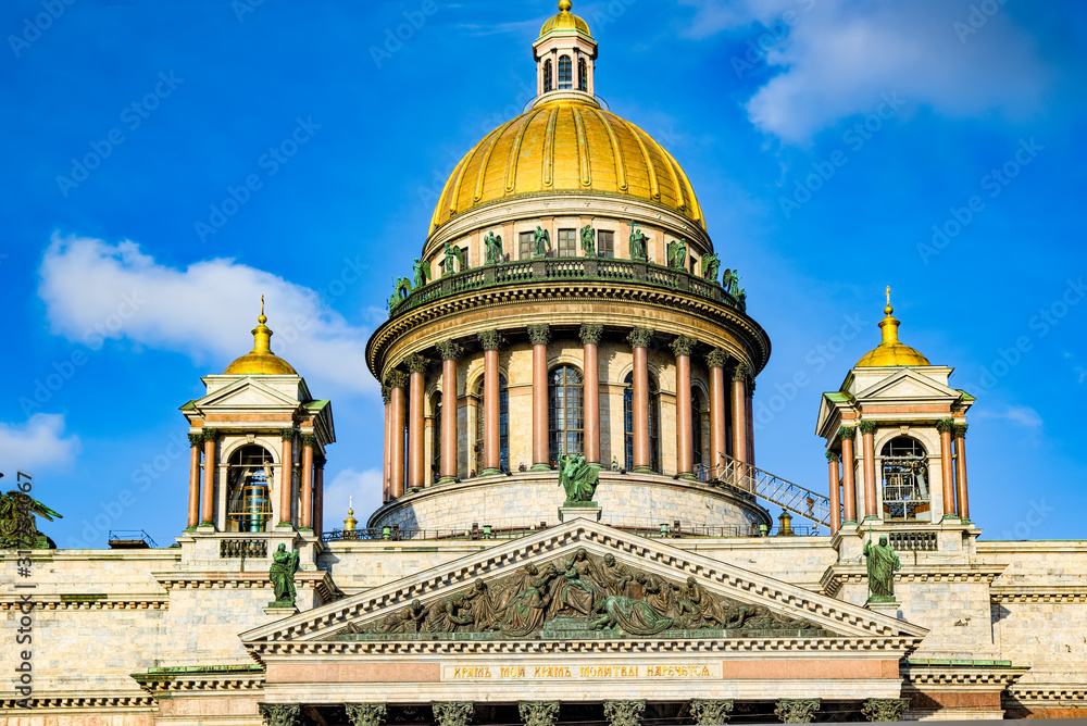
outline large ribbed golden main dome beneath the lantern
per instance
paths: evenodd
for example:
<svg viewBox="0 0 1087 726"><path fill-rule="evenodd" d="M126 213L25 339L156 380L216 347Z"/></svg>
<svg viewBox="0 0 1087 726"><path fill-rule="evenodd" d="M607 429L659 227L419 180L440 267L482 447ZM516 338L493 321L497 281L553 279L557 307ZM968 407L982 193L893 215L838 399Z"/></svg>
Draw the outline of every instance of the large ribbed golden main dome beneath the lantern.
<svg viewBox="0 0 1087 726"><path fill-rule="evenodd" d="M492 202L578 192L634 197L705 228L687 175L660 143L589 102L563 100L536 107L484 137L446 182L430 231Z"/></svg>

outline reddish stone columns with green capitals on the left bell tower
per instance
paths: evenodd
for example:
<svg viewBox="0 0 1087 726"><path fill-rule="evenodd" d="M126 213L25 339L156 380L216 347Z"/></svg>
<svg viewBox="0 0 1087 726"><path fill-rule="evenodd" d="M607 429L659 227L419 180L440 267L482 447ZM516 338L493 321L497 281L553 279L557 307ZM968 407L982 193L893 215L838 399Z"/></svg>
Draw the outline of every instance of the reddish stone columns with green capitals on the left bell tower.
<svg viewBox="0 0 1087 726"><path fill-rule="evenodd" d="M325 456L317 448L317 437L305 429L300 435L295 428L279 429L282 458L278 479L278 524L295 526L291 510L293 505L296 437L301 439L302 446L297 526L299 529L312 529L320 537L324 526L322 509L324 505ZM188 531L195 530L198 526L208 525L216 527L220 531L227 530L226 522L220 522L217 525L215 522L215 454L216 449L218 449L218 439L220 431L215 428L203 428L200 433L189 434ZM201 452L203 454L202 461ZM220 463L227 464L228 462ZM268 486L271 487L271 483Z"/></svg>

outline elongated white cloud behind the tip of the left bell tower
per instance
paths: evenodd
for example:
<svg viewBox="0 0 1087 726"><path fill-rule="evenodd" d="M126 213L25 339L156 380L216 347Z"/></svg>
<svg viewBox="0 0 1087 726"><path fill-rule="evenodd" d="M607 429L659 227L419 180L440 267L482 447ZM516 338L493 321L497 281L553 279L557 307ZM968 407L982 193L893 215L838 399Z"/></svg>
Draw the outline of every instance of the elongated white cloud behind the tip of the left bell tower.
<svg viewBox="0 0 1087 726"><path fill-rule="evenodd" d="M340 279L358 280L345 264ZM322 384L376 390L364 354L370 330L348 324L316 291L234 260L178 268L136 242L54 237L40 276L38 295L54 333L91 348L127 338L189 355L209 373L252 348L249 331L263 295L272 350L305 376L314 395L330 393Z"/></svg>

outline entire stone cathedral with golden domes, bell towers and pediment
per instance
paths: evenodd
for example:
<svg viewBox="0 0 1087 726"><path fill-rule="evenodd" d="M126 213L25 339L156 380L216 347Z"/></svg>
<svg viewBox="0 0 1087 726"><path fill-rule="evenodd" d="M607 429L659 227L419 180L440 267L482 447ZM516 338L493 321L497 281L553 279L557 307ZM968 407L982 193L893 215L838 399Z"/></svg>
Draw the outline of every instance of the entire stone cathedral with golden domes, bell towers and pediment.
<svg viewBox="0 0 1087 726"><path fill-rule="evenodd" d="M324 521L333 403L262 309L180 406L176 546L35 550L29 599L3 556L0 724L1087 717L1087 543L980 538L974 398L891 291L819 401L825 484L759 468L770 336L690 180L569 0L533 54L366 347L382 505Z"/></svg>

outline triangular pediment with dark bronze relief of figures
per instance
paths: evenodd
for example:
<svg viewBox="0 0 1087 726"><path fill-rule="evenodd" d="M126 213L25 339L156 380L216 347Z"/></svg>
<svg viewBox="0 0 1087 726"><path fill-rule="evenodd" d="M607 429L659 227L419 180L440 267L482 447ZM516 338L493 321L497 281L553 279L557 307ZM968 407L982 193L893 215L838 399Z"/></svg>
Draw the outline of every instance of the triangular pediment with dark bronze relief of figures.
<svg viewBox="0 0 1087 726"><path fill-rule="evenodd" d="M578 552L584 552L582 564L567 567L567 562L578 561ZM600 575L607 555L616 568L632 576L640 574L642 581L635 580L638 587L624 584L615 571L611 576ZM605 584L609 578L611 589ZM585 579L589 580L587 587L583 587ZM476 580L483 580L482 588ZM671 600L663 594L664 586L677 589ZM479 589L486 590L486 600L474 592ZM595 590L595 596L588 590ZM698 598L686 597L685 591ZM675 602L680 599L686 602ZM696 599L702 604L694 602ZM486 602L489 627L479 626L476 605L466 606L466 601ZM241 639L252 650L284 641L316 644L653 636L920 640L926 634L923 627L659 539L578 518L255 628Z"/></svg>

